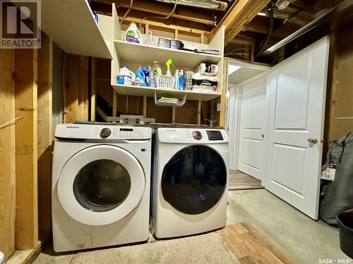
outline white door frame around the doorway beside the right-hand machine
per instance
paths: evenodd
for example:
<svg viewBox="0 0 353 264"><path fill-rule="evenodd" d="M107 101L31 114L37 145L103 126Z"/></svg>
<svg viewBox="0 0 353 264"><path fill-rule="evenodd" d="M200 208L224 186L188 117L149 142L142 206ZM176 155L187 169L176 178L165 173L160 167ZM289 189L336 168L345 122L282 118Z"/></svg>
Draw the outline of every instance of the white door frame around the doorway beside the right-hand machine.
<svg viewBox="0 0 353 264"><path fill-rule="evenodd" d="M263 75L267 75L267 85L266 85L266 120L268 120L268 101L269 101L269 81L270 81L270 65L258 65L253 63L247 63L244 61L237 61L237 60L229 60L229 64L238 65L245 68L253 68L257 70L265 70L263 73L259 75L253 76L248 80L245 80L239 84L244 85L246 82L251 82L251 80L256 80L259 76L263 77ZM227 68L228 70L228 68ZM228 77L228 75L227 75ZM230 87L229 91L229 108L228 108L228 127L229 127L229 150L231 153L229 154L229 169L231 170L238 170L238 160L239 160L239 135L240 135L240 102L241 102L241 90L239 84L231 84L228 82L228 87ZM231 132L232 131L232 132ZM267 127L266 127L266 134L267 134ZM265 137L266 139L266 137ZM267 141L266 141L267 147ZM265 175L261 177L261 185L264 186L265 184Z"/></svg>

